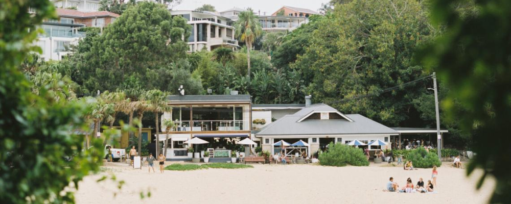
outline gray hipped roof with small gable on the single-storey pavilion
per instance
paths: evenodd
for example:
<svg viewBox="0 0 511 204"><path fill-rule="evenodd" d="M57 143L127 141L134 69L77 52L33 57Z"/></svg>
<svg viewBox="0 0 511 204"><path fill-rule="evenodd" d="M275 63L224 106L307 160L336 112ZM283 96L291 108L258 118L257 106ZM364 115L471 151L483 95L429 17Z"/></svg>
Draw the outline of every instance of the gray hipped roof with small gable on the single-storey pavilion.
<svg viewBox="0 0 511 204"><path fill-rule="evenodd" d="M383 124L366 118L360 114L345 115L353 120L303 120L304 115L312 111L337 111L328 105L304 108L293 115L286 115L268 125L257 133L263 135L338 135L338 134L399 134Z"/></svg>

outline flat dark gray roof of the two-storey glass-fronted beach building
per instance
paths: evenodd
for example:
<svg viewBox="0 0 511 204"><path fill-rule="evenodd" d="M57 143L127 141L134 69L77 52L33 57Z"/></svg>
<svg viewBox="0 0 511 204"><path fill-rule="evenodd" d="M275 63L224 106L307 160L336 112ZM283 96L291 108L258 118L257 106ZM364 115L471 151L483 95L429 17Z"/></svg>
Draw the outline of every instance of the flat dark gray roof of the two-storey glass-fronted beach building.
<svg viewBox="0 0 511 204"><path fill-rule="evenodd" d="M167 100L171 103L183 102L247 102L250 95L169 95Z"/></svg>

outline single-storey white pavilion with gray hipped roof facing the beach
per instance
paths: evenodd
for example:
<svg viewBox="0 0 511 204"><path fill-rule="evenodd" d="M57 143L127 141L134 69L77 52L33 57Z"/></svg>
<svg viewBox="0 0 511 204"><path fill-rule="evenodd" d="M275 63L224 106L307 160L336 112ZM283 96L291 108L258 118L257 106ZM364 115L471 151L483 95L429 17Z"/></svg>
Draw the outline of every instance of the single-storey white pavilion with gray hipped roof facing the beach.
<svg viewBox="0 0 511 204"><path fill-rule="evenodd" d="M331 142L347 144L353 140L368 143L379 139L389 144L381 147L382 149L390 148L390 137L398 135L399 132L374 120L359 114L344 115L325 104L301 108L255 133L255 137L261 140L263 150L270 151L271 154L281 150L280 147L273 146L275 142L284 140L294 143L303 140L310 145L307 148L308 155L326 148Z"/></svg>

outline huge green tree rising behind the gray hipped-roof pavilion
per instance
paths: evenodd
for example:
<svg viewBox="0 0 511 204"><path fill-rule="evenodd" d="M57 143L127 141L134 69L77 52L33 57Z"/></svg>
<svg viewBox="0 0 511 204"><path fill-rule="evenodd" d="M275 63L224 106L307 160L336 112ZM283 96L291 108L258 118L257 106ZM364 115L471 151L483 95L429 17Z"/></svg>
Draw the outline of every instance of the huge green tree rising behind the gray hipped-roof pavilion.
<svg viewBox="0 0 511 204"><path fill-rule="evenodd" d="M317 23L306 52L292 65L305 79L312 79L306 93L345 113L363 114L387 125L417 121L411 100L426 92L424 83L348 99L425 75L422 67L410 60L430 35L428 18L419 3L368 0L337 4L332 14ZM334 102L341 99L345 99L343 103Z"/></svg>

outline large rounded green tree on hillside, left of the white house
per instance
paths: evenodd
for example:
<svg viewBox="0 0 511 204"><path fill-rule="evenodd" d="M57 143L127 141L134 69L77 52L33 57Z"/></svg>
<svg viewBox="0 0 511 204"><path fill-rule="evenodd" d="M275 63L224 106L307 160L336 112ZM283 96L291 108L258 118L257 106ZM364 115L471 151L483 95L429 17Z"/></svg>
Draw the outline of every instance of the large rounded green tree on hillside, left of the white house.
<svg viewBox="0 0 511 204"><path fill-rule="evenodd" d="M182 39L190 30L185 19L172 18L163 5L129 7L92 39L89 52L79 53L76 81L89 91L116 90L129 78L143 84L143 90L163 88L159 76L170 75L168 64L185 58L188 45Z"/></svg>

